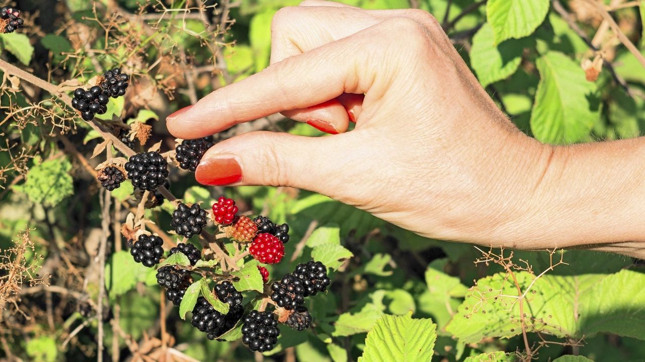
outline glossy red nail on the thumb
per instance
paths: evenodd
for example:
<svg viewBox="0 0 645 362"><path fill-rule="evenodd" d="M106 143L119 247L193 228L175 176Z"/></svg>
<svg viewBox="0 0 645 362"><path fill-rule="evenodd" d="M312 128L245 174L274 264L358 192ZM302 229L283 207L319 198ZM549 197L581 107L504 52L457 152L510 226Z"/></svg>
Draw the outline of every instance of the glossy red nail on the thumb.
<svg viewBox="0 0 645 362"><path fill-rule="evenodd" d="M204 158L195 171L195 180L203 185L227 185L241 178L242 167L231 155Z"/></svg>

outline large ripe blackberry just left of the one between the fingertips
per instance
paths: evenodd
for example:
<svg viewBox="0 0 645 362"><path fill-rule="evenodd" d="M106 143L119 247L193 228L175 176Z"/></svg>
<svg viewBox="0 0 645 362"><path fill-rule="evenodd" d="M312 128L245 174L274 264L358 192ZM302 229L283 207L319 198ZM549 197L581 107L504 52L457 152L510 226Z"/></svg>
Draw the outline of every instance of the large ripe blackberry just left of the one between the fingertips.
<svg viewBox="0 0 645 362"><path fill-rule="evenodd" d="M138 189L155 191L166 182L168 162L159 152L137 153L125 164L132 186Z"/></svg>

